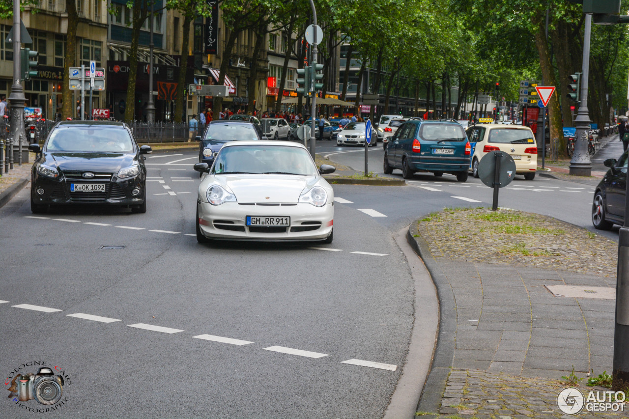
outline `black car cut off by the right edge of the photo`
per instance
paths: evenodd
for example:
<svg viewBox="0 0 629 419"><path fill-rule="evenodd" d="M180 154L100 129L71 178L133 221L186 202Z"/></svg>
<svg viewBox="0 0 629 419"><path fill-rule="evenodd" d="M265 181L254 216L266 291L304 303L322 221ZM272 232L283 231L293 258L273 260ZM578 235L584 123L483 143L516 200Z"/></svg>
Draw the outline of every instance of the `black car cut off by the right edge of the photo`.
<svg viewBox="0 0 629 419"><path fill-rule="evenodd" d="M625 223L627 154L603 162L610 169L596 186L592 203L592 224L598 230L610 230L614 224Z"/></svg>

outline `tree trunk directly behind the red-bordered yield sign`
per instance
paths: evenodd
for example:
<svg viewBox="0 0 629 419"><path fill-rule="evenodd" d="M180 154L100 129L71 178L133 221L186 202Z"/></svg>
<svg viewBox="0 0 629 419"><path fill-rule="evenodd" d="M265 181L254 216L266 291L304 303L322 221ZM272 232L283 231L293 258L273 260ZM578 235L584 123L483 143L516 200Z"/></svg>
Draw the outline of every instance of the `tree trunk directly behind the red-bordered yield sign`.
<svg viewBox="0 0 629 419"><path fill-rule="evenodd" d="M544 14L540 11L533 16L533 25L535 25L535 45L540 56L540 67L546 86L557 86L555 82L555 70L550 62L550 52L548 51L548 43L545 38L545 19ZM561 122L561 112L559 110L559 101L557 98L550 100L548 103L548 116L550 119L550 140L559 138L559 157L566 157L564 130ZM538 145L539 147L539 145ZM545 144L542 145L545 147Z"/></svg>

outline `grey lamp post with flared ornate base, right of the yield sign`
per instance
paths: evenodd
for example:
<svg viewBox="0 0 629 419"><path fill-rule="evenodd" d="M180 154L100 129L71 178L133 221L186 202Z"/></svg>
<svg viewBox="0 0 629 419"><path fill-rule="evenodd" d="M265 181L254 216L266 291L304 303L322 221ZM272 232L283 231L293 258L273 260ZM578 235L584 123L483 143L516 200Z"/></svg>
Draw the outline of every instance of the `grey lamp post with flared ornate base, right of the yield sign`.
<svg viewBox="0 0 629 419"><path fill-rule="evenodd" d="M577 128L577 141L570 160L570 174L575 176L590 176L592 162L587 152L588 133L590 130L589 111L587 111L587 77L589 75L589 46L592 27L592 15L586 14L585 34L583 37L583 74L581 75L581 105L574 120Z"/></svg>

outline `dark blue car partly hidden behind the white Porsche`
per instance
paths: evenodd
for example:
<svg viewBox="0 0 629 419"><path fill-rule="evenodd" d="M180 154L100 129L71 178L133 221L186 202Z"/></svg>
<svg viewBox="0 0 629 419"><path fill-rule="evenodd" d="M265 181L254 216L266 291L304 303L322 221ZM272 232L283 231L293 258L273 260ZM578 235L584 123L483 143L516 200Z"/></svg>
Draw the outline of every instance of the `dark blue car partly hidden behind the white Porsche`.
<svg viewBox="0 0 629 419"><path fill-rule="evenodd" d="M255 125L250 122L238 120L217 120L211 121L206 128L203 137L196 137L199 142L199 163L212 165L214 157L219 150L230 141L241 140L267 140L261 137Z"/></svg>

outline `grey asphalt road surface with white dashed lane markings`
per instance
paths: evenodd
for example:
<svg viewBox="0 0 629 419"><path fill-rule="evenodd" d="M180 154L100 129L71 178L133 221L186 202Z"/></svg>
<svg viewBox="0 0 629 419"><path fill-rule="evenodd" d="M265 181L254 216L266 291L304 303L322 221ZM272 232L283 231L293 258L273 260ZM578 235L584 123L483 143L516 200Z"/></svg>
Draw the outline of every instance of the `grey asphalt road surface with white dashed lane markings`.
<svg viewBox="0 0 629 419"><path fill-rule="evenodd" d="M328 142L317 152L356 168L364 158ZM381 417L423 304L393 235L446 206L489 206L492 190L448 175L334 185L331 245L199 245L196 155L149 157L143 215L34 216L28 190L0 209L0 373L32 361L64 371L67 401L52 417ZM591 229L592 196L591 185L518 177L499 204ZM124 248L101 249L112 245ZM6 399L0 417L42 407L22 405Z"/></svg>

